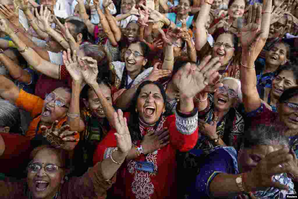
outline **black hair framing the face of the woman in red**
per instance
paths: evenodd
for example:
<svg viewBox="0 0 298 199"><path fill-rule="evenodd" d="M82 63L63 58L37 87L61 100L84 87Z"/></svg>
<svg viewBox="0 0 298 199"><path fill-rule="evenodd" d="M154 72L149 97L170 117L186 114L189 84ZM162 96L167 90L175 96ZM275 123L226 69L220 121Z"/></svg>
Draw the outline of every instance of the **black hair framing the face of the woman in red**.
<svg viewBox="0 0 298 199"><path fill-rule="evenodd" d="M164 91L164 88L162 87L162 85L159 82L152 82L152 81L142 82L141 85L139 85L138 89L136 90L136 93L134 94L134 97L131 100L131 104L128 108L128 111L131 112L131 114L129 116L129 120L128 120L128 129L131 134L132 141L142 139L140 129L139 129L139 114L136 112L136 105L137 105L138 97L139 97L139 94L141 93L142 88L148 84L154 84L159 88L159 90L162 94L162 98L164 99L164 107L167 107L167 105L166 105L167 104L167 96L166 96L166 92ZM161 119L162 119L162 115L161 115L161 117L159 117L159 120L155 123L153 129L156 129L158 127Z"/></svg>

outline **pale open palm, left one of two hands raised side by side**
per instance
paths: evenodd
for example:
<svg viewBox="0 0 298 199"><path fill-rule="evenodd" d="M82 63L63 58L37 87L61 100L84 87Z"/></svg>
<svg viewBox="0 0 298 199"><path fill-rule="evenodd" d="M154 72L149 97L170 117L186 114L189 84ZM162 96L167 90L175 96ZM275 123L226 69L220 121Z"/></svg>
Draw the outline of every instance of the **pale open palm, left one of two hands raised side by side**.
<svg viewBox="0 0 298 199"><path fill-rule="evenodd" d="M72 52L72 57L70 55L70 49L67 49L67 53L63 51L63 63L69 72L70 76L74 81L83 82L84 78L81 73L81 69L79 67L79 64L77 62L77 51L74 50Z"/></svg>

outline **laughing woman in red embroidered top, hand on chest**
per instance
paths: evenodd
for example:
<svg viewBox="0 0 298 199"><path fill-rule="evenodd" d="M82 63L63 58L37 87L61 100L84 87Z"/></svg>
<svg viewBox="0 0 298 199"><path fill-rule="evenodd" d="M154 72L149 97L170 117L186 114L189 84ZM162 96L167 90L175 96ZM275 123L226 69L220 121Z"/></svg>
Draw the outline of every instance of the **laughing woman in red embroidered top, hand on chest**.
<svg viewBox="0 0 298 199"><path fill-rule="evenodd" d="M125 114L133 146L118 172L113 198L176 198L176 151L192 149L199 137L193 97L218 77L218 58L210 59L208 56L199 66L188 63L178 74L180 103L175 115L164 116L162 85L145 81L138 87L131 113ZM117 149L114 133L112 129L97 146L94 163Z"/></svg>

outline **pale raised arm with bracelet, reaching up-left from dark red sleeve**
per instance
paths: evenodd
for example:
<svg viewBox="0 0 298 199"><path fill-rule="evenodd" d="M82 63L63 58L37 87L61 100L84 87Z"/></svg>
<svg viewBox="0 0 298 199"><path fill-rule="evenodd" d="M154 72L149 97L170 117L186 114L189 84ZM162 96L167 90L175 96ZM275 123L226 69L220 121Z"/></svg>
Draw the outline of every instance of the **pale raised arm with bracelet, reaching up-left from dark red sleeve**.
<svg viewBox="0 0 298 199"><path fill-rule="evenodd" d="M50 76L54 79L59 79L59 65L52 64L44 60L38 53L32 48L28 47L21 39L18 38L17 34L21 35L20 32L14 33L13 30L8 27L7 20L1 19L0 30L6 33L15 43L16 47L22 54L22 56L27 60L28 64L31 65L35 70ZM32 59L34 57L34 59Z"/></svg>

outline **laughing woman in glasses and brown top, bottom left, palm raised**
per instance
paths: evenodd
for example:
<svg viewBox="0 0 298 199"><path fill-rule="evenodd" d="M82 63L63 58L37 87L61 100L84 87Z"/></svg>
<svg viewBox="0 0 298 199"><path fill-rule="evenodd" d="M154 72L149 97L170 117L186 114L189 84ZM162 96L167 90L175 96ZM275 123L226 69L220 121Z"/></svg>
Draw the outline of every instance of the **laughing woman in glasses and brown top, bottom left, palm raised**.
<svg viewBox="0 0 298 199"><path fill-rule="evenodd" d="M106 198L106 191L115 182L115 173L121 166L115 162L123 162L131 149L131 136L122 112L119 110L114 117L117 119L115 142L118 150L113 152L113 157L97 163L81 177L66 180L65 175L69 171L67 152L47 145L40 146L31 153L26 179L0 180L0 197L2 199Z"/></svg>

